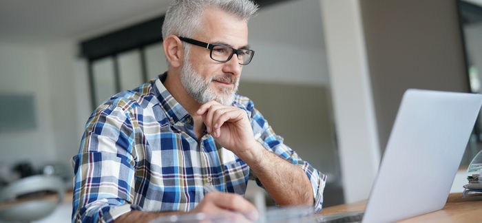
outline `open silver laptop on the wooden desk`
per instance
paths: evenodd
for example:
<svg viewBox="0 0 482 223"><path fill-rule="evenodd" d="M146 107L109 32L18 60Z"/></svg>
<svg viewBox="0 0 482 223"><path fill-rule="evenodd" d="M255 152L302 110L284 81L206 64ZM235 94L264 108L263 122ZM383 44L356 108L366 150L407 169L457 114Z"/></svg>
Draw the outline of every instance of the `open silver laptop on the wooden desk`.
<svg viewBox="0 0 482 223"><path fill-rule="evenodd" d="M481 104L482 94L408 89L364 213L319 221L395 222L442 209Z"/></svg>

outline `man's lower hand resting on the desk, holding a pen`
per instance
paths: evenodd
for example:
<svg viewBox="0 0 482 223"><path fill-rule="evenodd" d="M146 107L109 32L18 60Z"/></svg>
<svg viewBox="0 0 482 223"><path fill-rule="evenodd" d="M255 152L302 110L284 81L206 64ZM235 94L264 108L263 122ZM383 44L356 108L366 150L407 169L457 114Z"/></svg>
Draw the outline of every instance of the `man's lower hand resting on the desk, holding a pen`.
<svg viewBox="0 0 482 223"><path fill-rule="evenodd" d="M191 213L214 214L231 222L254 222L258 220L258 210L236 193L211 192Z"/></svg>

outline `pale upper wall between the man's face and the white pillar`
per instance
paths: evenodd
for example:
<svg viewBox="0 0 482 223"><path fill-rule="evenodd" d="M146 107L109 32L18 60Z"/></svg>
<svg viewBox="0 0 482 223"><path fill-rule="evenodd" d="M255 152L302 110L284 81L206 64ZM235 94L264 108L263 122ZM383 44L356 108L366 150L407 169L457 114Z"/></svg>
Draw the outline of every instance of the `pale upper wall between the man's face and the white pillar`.
<svg viewBox="0 0 482 223"><path fill-rule="evenodd" d="M318 0L262 8L248 24L255 56L242 80L328 86L321 20Z"/></svg>

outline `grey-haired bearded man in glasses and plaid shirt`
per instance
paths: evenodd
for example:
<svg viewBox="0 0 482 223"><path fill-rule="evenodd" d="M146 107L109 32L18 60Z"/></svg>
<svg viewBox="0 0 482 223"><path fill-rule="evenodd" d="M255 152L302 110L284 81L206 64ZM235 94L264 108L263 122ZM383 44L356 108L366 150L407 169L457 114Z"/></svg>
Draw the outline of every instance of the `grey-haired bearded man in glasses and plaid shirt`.
<svg viewBox="0 0 482 223"><path fill-rule="evenodd" d="M176 1L166 13L169 70L99 106L75 171L72 222L148 222L162 215L241 213L249 178L280 205L321 210L326 177L235 95L253 58L249 0ZM207 193L207 187L222 192Z"/></svg>

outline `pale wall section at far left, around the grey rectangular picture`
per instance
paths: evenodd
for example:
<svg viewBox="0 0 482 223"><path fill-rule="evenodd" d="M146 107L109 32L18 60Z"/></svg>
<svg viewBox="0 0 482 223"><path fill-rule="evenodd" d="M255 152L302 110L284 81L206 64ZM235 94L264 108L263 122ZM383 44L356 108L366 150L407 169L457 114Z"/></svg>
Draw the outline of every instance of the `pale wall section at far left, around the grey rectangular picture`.
<svg viewBox="0 0 482 223"><path fill-rule="evenodd" d="M0 43L0 92L34 94L36 127L0 132L0 162L56 160L50 77L41 47ZM1 109L8 109L2 105Z"/></svg>

